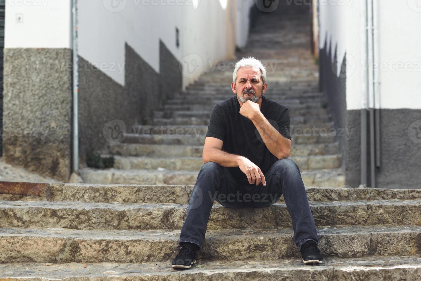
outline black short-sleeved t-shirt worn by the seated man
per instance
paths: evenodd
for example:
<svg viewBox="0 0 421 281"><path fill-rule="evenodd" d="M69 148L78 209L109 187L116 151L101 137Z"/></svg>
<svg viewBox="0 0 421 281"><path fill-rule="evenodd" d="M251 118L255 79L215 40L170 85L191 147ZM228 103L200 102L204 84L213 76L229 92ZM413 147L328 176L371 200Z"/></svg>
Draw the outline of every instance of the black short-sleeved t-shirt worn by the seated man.
<svg viewBox="0 0 421 281"><path fill-rule="evenodd" d="M269 123L287 139L290 135L290 115L288 107L261 96L260 111ZM217 103L210 113L206 136L221 139L222 150L242 155L255 163L265 174L278 160L263 142L253 121L240 114L237 95ZM247 176L239 167L227 167L232 177L240 185L248 185Z"/></svg>

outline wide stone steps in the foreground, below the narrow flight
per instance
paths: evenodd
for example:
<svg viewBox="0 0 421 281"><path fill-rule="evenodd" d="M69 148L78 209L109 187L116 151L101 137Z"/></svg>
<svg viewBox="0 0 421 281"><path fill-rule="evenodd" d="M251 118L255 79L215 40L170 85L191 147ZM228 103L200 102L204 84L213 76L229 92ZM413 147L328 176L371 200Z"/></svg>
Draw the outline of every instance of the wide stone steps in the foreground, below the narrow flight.
<svg viewBox="0 0 421 281"><path fill-rule="evenodd" d="M39 187L39 186L38 186ZM0 195L7 280L419 280L421 190L306 187L324 256L302 265L288 210L215 203L197 266L171 268L192 185L43 184Z"/></svg>

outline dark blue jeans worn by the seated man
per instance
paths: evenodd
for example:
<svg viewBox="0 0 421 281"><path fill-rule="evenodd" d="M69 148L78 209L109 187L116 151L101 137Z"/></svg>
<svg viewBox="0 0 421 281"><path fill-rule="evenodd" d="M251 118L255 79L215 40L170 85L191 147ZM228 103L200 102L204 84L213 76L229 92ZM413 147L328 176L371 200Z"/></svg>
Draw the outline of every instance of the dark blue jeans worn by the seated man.
<svg viewBox="0 0 421 281"><path fill-rule="evenodd" d="M202 248L214 199L228 208L261 208L274 204L283 194L298 249L307 240L318 244L316 225L298 165L290 158L284 158L276 161L264 176L266 186L248 182L240 185L224 166L205 163L190 196L179 242L191 242Z"/></svg>

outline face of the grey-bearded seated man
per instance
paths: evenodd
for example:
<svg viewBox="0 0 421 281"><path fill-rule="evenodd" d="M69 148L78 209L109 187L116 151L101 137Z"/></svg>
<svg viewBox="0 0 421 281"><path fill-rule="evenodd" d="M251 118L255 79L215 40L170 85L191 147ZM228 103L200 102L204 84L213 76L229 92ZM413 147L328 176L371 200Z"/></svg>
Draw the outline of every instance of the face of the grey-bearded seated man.
<svg viewBox="0 0 421 281"><path fill-rule="evenodd" d="M237 94L237 99L241 102L258 102L267 88L263 83L261 72L258 68L240 67L237 71L237 81L231 84L232 91Z"/></svg>

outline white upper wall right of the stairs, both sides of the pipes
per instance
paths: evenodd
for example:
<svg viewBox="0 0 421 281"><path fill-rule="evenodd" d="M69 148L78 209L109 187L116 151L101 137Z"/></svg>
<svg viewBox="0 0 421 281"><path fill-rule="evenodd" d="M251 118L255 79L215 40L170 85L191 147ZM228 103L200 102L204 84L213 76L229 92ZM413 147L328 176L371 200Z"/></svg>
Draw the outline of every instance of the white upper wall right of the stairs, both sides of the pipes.
<svg viewBox="0 0 421 281"><path fill-rule="evenodd" d="M375 1L378 7L378 64L367 64L365 0L350 1L350 5L344 6L320 5L320 48L324 47L327 32L328 43L332 41L333 48L338 45L338 55L343 57L346 52L347 110L360 109L365 104L367 71L373 67L379 74L381 108L419 109L421 37L414 28L421 25L421 7L410 5L411 1ZM341 57L338 59L342 61Z"/></svg>

